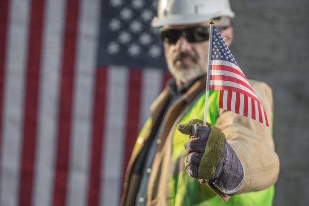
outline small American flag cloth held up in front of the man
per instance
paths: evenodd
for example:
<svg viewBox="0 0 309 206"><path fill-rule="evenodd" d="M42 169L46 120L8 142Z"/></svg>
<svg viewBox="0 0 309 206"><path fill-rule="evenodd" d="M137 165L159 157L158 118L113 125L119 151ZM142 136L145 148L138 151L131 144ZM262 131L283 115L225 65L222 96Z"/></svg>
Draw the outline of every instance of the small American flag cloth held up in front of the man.
<svg viewBox="0 0 309 206"><path fill-rule="evenodd" d="M266 112L251 85L213 26L210 34L210 90L220 90L219 107L268 125Z"/></svg>

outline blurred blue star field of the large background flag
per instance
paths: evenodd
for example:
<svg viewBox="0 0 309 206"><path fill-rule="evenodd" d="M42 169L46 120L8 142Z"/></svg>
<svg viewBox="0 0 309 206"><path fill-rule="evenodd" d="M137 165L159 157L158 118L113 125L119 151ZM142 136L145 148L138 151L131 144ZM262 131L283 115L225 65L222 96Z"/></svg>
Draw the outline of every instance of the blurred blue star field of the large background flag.
<svg viewBox="0 0 309 206"><path fill-rule="evenodd" d="M159 28L150 22L157 1L102 1L98 65L166 69Z"/></svg>

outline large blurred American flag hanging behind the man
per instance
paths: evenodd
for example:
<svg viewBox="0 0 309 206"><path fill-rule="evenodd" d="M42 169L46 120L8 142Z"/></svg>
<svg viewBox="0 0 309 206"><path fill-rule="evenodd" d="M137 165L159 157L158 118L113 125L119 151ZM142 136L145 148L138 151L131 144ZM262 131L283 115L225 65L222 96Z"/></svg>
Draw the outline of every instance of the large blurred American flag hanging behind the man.
<svg viewBox="0 0 309 206"><path fill-rule="evenodd" d="M0 1L0 205L118 205L166 72L146 0Z"/></svg>

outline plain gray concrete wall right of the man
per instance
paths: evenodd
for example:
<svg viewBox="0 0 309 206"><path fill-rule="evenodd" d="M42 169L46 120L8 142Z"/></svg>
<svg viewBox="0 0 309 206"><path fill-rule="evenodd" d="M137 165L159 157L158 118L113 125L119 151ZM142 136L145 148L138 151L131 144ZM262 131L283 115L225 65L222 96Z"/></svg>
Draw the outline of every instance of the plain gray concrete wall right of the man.
<svg viewBox="0 0 309 206"><path fill-rule="evenodd" d="M308 1L231 0L231 51L246 77L274 96L274 140L281 166L274 205L309 205Z"/></svg>

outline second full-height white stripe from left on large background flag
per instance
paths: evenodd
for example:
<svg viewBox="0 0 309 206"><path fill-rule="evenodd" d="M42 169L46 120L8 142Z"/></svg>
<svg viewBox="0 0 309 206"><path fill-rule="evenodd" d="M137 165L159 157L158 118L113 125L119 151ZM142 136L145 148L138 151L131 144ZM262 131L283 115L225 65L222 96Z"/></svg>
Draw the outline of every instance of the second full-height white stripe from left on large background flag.
<svg viewBox="0 0 309 206"><path fill-rule="evenodd" d="M58 15L55 15L58 11ZM65 1L46 0L42 38L42 64L39 81L39 109L33 204L50 205L52 201L56 154L58 91L62 57Z"/></svg>

